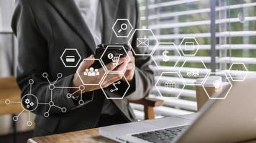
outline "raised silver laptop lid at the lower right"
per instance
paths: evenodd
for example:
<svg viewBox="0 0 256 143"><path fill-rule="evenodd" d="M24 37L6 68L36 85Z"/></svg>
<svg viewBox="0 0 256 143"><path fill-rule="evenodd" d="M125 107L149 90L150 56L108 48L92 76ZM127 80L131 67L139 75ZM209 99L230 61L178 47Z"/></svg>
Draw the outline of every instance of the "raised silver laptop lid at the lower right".
<svg viewBox="0 0 256 143"><path fill-rule="evenodd" d="M225 93L225 91L223 92ZM220 96L224 96L220 94ZM226 99L209 99L178 142L240 142L256 138L256 79L233 83Z"/></svg>

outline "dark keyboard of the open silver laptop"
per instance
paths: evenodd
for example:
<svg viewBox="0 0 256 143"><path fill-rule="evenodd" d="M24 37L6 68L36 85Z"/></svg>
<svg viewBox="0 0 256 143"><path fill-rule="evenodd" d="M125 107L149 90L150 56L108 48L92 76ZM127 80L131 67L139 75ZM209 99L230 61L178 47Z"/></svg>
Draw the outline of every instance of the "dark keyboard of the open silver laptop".
<svg viewBox="0 0 256 143"><path fill-rule="evenodd" d="M171 142L181 131L188 126L172 127L168 129L160 129L151 132L143 132L140 134L132 134L133 137L144 139L148 142L167 143Z"/></svg>

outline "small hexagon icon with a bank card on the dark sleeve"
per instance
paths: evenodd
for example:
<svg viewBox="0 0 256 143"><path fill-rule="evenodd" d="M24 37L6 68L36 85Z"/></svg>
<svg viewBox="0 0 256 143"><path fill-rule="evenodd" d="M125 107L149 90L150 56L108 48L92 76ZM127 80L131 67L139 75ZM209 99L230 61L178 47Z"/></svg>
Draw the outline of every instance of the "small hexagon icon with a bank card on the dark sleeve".
<svg viewBox="0 0 256 143"><path fill-rule="evenodd" d="M81 56L77 49L65 49L60 56L65 67L76 67L81 60Z"/></svg>

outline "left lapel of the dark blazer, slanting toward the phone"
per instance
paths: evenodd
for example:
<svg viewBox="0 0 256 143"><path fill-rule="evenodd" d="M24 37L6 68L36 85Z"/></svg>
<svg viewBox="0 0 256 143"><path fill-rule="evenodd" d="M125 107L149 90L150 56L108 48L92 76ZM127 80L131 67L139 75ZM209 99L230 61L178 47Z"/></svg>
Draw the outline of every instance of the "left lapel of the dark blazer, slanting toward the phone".
<svg viewBox="0 0 256 143"><path fill-rule="evenodd" d="M94 42L91 31L86 26L80 11L73 0L48 0L52 6L57 9L60 15L67 21L81 39L89 46L91 51L95 53L96 44Z"/></svg>

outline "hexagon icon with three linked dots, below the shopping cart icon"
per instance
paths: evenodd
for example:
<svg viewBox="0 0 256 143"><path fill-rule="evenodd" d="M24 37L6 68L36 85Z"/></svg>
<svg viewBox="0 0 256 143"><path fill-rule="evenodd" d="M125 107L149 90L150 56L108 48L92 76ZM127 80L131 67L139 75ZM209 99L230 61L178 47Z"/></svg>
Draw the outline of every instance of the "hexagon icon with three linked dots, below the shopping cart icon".
<svg viewBox="0 0 256 143"><path fill-rule="evenodd" d="M124 96L127 94L130 84L123 73L109 72L104 80L109 77L119 76L120 74L122 75L122 79L112 83L109 87L103 88L102 84L100 85L102 92L106 96L106 99L123 99Z"/></svg>

